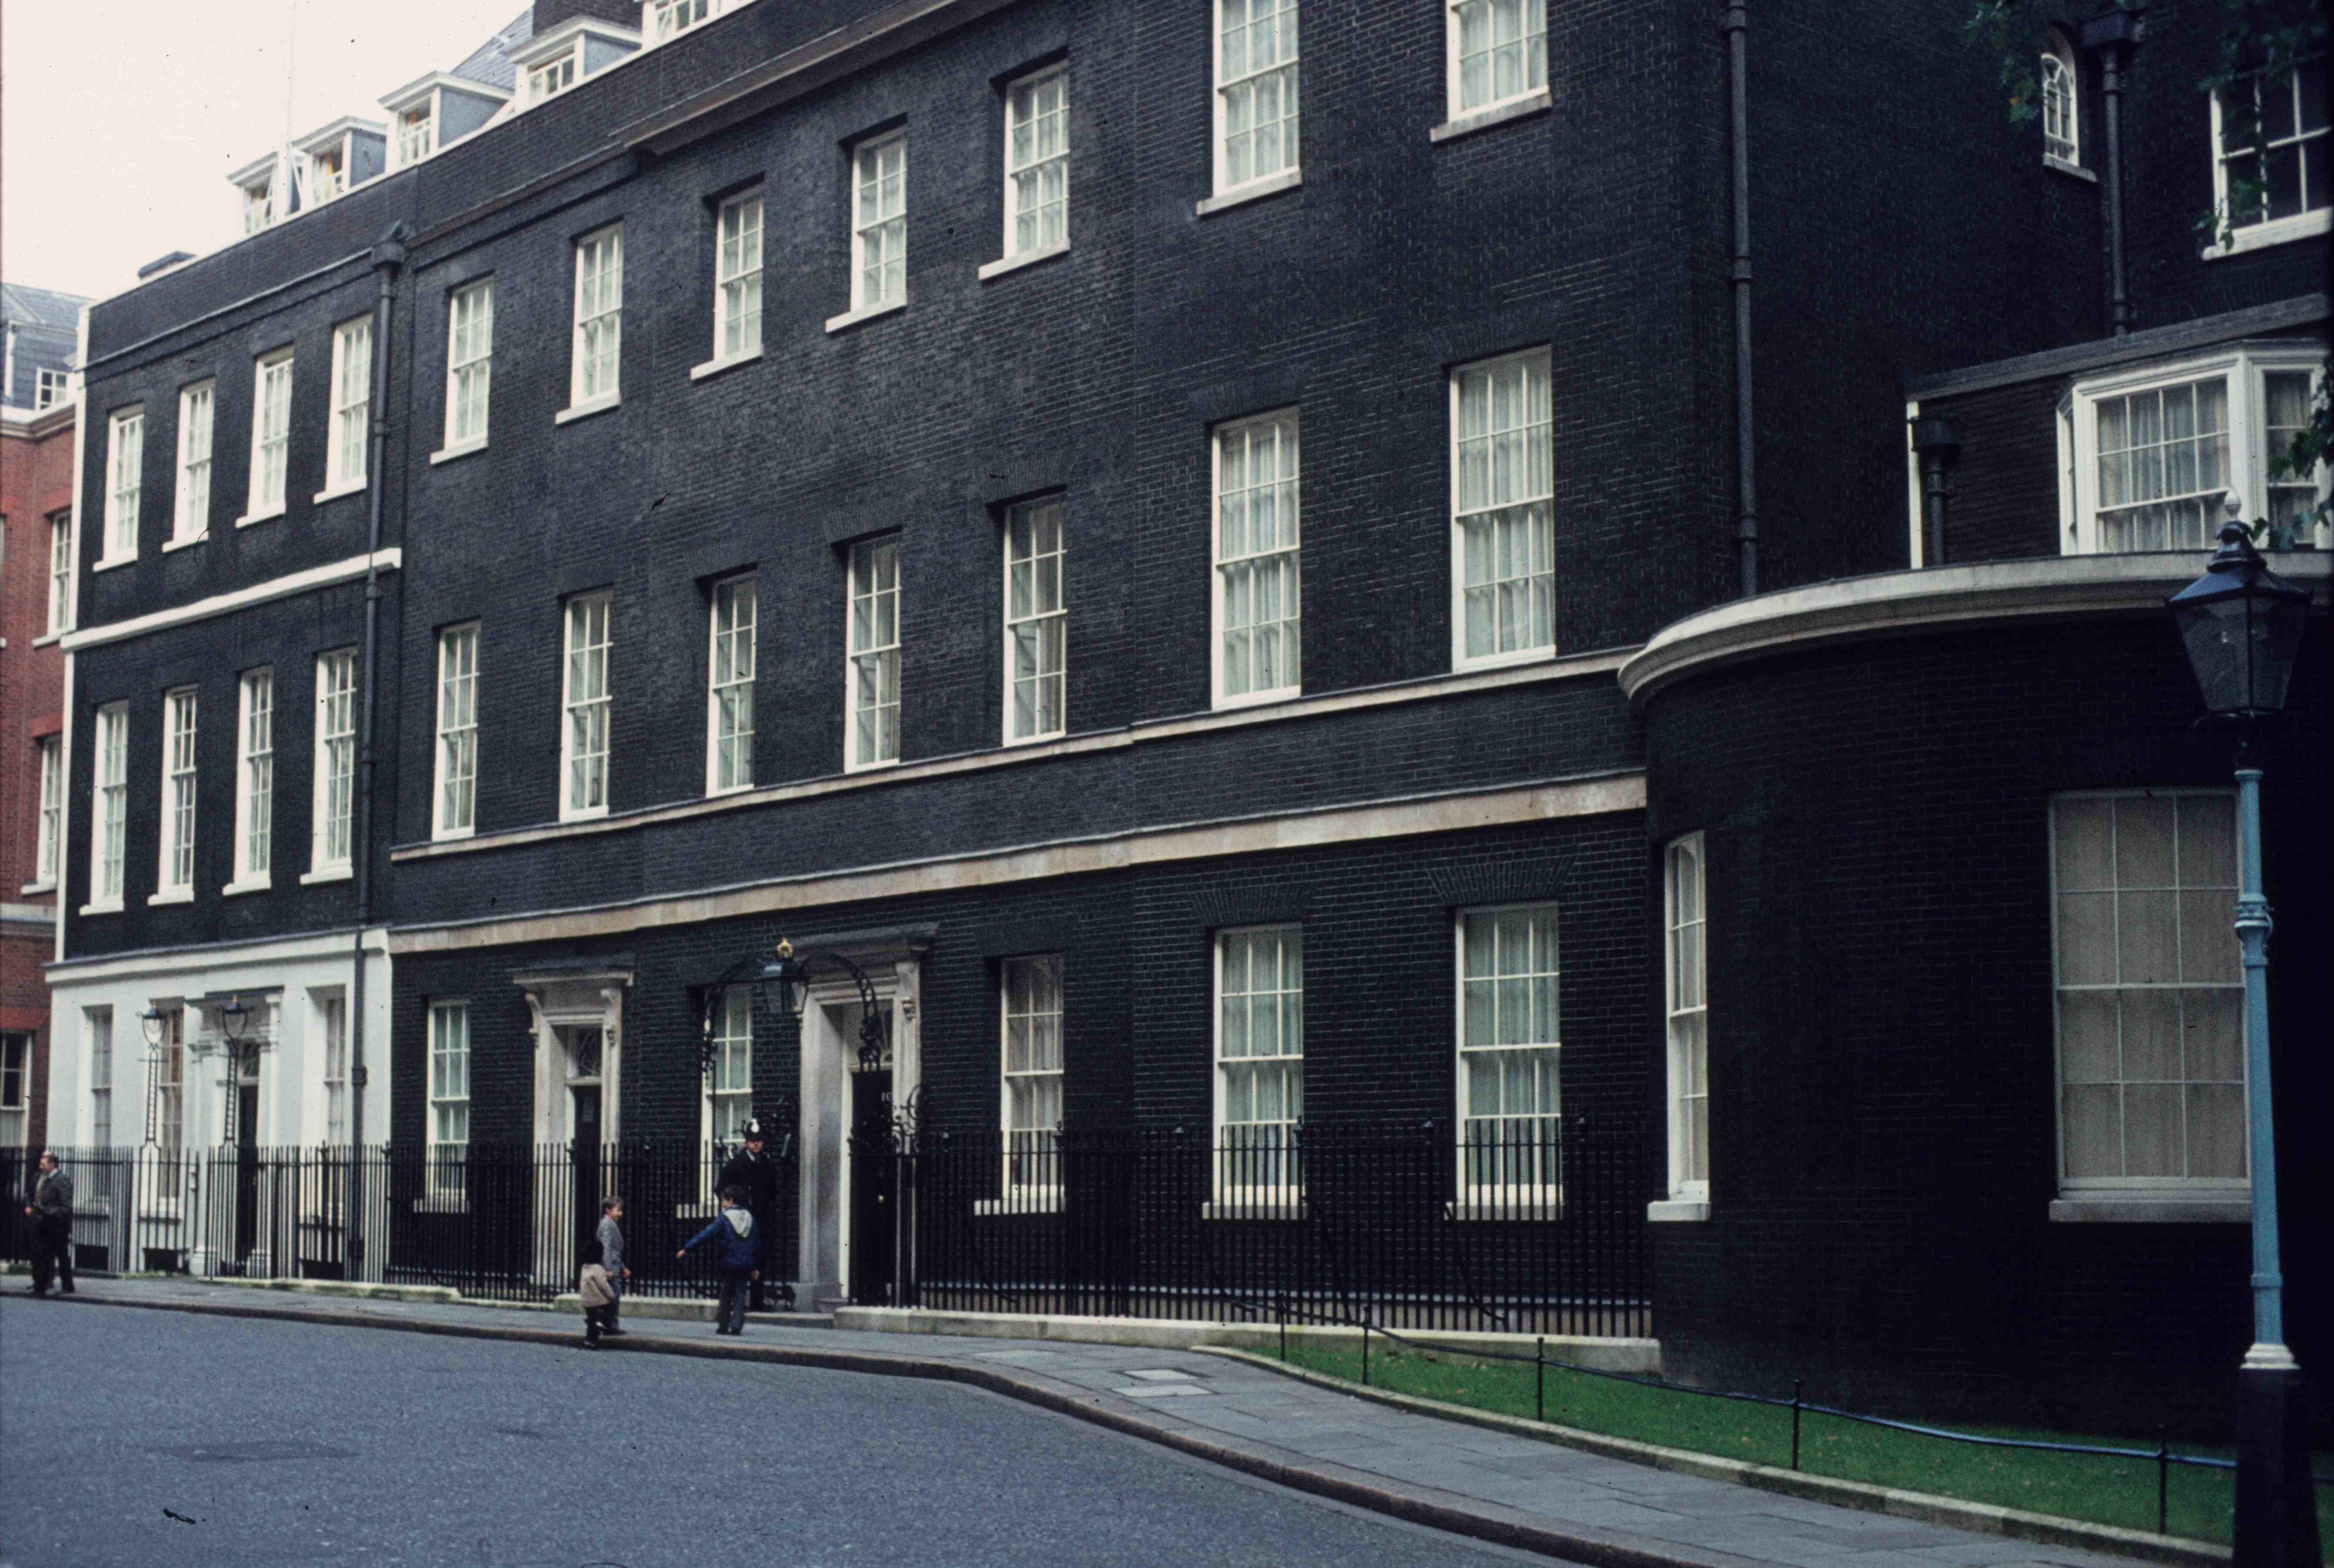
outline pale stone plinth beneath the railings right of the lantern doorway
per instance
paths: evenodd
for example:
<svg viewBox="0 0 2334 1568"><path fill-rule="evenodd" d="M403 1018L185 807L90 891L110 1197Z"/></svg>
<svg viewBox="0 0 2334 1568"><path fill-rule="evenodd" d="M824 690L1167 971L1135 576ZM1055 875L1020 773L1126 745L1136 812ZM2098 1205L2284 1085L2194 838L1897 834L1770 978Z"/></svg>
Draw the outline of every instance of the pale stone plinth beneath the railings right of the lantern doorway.
<svg viewBox="0 0 2334 1568"><path fill-rule="evenodd" d="M1195 1351L1225 1346L1239 1351L1279 1349L1277 1323L1176 1323L1165 1318L1074 1318L1025 1316L1011 1311L927 1311L922 1307L838 1307L836 1328L880 1335L973 1335L980 1339L1057 1339L1067 1344L1132 1344L1153 1351ZM1314 1344L1354 1344L1358 1328L1291 1323L1288 1337ZM1480 1353L1505 1351L1529 1356L1538 1335L1487 1335L1461 1330L1403 1330L1431 1351ZM1659 1339L1592 1339L1585 1335L1547 1335L1547 1358L1596 1372L1662 1374Z"/></svg>

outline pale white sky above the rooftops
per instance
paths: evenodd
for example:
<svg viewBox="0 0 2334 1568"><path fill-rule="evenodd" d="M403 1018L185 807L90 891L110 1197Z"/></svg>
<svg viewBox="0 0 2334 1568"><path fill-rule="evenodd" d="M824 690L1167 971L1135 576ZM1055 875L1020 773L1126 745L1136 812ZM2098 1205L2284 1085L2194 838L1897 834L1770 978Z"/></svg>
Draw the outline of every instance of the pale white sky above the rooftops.
<svg viewBox="0 0 2334 1568"><path fill-rule="evenodd" d="M107 296L240 233L226 173L285 135L387 119L525 0L0 0L0 278Z"/></svg>

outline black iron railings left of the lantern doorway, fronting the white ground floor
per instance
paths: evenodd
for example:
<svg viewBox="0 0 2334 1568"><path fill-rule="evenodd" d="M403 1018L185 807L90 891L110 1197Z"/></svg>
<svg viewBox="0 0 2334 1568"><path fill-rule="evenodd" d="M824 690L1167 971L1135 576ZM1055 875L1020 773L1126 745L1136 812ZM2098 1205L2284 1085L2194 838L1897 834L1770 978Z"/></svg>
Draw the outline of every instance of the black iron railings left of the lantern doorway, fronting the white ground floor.
<svg viewBox="0 0 2334 1568"><path fill-rule="evenodd" d="M626 1204L630 1295L719 1293L712 1248L672 1253L719 1211L721 1146L63 1148L75 1265L210 1279L450 1286L483 1300L574 1290L600 1199ZM37 1150L0 1150L0 1188L30 1192ZM794 1171L780 1162L768 1255L791 1258ZM364 1225L352 1225L364 1204ZM12 1209L21 1220L21 1204ZM0 1258L30 1253L0 1225ZM352 1248L355 1237L364 1248Z"/></svg>

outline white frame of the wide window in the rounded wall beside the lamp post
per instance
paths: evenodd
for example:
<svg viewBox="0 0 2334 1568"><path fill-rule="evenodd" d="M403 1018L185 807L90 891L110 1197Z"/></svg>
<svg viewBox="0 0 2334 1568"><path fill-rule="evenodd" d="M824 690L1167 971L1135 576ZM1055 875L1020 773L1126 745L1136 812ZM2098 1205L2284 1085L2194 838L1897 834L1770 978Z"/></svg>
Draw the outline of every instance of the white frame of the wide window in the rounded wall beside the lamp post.
<svg viewBox="0 0 2334 1568"><path fill-rule="evenodd" d="M2192 891L2201 891L2201 894L2208 894L2208 896L2227 894L2227 919L2229 919L2229 926L2220 929L2217 922L2215 922L2215 938L2227 938L2227 943L2229 943L2229 947L2227 947L2229 973L2224 978L2220 978L2220 980L2189 980L2182 973L2173 982L2154 982L2154 985L2150 985L2150 982L2129 982L2126 985L2122 980L2122 975L2117 975L2117 980L2112 985L2070 985L2066 980L2066 952L2063 952L2063 933L2061 933L2061 910L2063 910L2066 894L2059 887L2059 807L2066 805L2066 803L2082 803L2082 800L2108 800L2108 803L2124 803L2124 800L2133 800L2133 803L2136 800L2173 800L2173 803L2215 800L2215 803L2220 803L2220 807L2227 810L2229 852L2231 852L2229 854L2229 877L2231 877L2229 887L2224 887L2224 889L2194 887L2192 889L2185 882L2180 882L2180 877L2185 873L2178 866L2178 854L2180 854L2178 828L2175 828L2175 838L2173 838L2173 863L2175 863L2175 873L2173 873L2175 875L2175 884L2173 884L2175 896L2173 896L2173 903L2180 910L2175 915L2178 924L2173 926L2173 945L2175 945L2175 950L2185 947L2185 938L2187 938L2187 931L2185 931L2185 926L2187 926L2187 910L2182 905L2187 903L2187 896ZM2185 810L2185 807L2175 805L2175 812L2178 810ZM2054 1136L2054 1153L2056 1153L2056 1176L2059 1176L2059 1195L2061 1197L2066 1197L2066 1199L2084 1199L2084 1197L2089 1197L2089 1199L2108 1199L2108 1202L2115 1202L2115 1199L2131 1202L2131 1199L2150 1199L2150 1197L2159 1197L2159 1199L2161 1197L2208 1199L2208 1202L2210 1199L2238 1199L2238 1202L2243 1202L2243 1199L2250 1197L2250 1192L2252 1192L2252 1122L2250 1122L2250 1115L2248 1115L2248 1111L2250 1111L2250 1104L2248 1104L2250 1085L2248 1085L2248 1076L2245 1076L2245 1069L2248 1069L2248 1055L2245 1055L2245 971L2243 971L2243 966L2238 964L2238 957L2236 957L2236 931L2234 931L2234 922L2236 922L2236 875L2238 875L2236 856L2238 854L2241 854L2241 849L2236 845L2236 793L2229 791L2229 789L2084 789L2084 791L2063 791L2063 793L2056 793L2056 796L2049 798L2052 1125L2054 1125L2054 1134L2056 1134ZM2117 856L2112 840L2110 840L2110 847L2108 847L2108 856L2110 856L2110 863ZM2119 894L2124 891L2119 882L2122 880L2117 875L2117 887L2105 889L2110 896L2115 896L2117 903L2119 903ZM2089 891L2098 891L2098 889L2089 889ZM2122 910L2117 910L2117 917L2119 915L2122 915ZM2117 936L2119 936L2119 926L2117 926ZM2117 945L2119 945L2119 940L2117 940ZM2185 952L2178 952L2178 964L2185 971L2185 966L2187 966L2187 954ZM2108 994L2112 994L2117 999L2122 999L2124 992L2175 992L2175 994L2178 992L2229 992L2231 994L2234 1013L2236 1013L2238 1129L2241 1129L2241 1136L2245 1139L2245 1176L2229 1178L2229 1176L2068 1176L2066 1174L2066 1164L2068 1164L2066 1162L2066 1092L2068 1092L2068 1083L2066 1083L2066 1038L2063 1038L2066 1031L2063 1031L2063 1006L2061 1006L2061 999L2068 996L2070 992L2108 992ZM2117 1078L2115 1080L2117 1090L2124 1090L2131 1083L2133 1080L2129 1080L2129 1078ZM2164 1083L2164 1080L2147 1080L2147 1083ZM2187 1078L2187 1076L2180 1078L2182 1087L2187 1087L2189 1083L2227 1083L2227 1080L2194 1080L2194 1078ZM2185 1127L2187 1127L2187 1113L2182 1111L2182 1160L2187 1157Z"/></svg>

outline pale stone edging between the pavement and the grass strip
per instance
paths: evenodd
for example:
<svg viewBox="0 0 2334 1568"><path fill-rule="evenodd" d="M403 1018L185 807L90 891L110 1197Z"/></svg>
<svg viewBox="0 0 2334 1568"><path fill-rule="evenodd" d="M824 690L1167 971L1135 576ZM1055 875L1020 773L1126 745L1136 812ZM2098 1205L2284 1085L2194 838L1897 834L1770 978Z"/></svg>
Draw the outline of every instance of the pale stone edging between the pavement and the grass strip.
<svg viewBox="0 0 2334 1568"><path fill-rule="evenodd" d="M1503 1416L1498 1412L1475 1409L1473 1405L1447 1405L1442 1400L1426 1400L1412 1393L1363 1388L1358 1384L1337 1377L1326 1377L1307 1367L1291 1367L1270 1356L1256 1356L1251 1351L1242 1351L1235 1346L1193 1346L1193 1349L1207 1356L1223 1356L1225 1360L1242 1360L1253 1367L1263 1367L1267 1372L1277 1372L1281 1377L1302 1384L1314 1384L1316 1388L1333 1388L1356 1400L1370 1400L1372 1405L1389 1405L1393 1409L1405 1409L1410 1414L1435 1416L1442 1421L1459 1421L1494 1433L1536 1437L1540 1442L1554 1442L1566 1449L1601 1454L1603 1458L1622 1458L1636 1465L1652 1465L1655 1470L1676 1470L1678 1475L1699 1475L1711 1482L1755 1486L1760 1491L1774 1491L1790 1498L1807 1498L1809 1503L1856 1507L1870 1514L1914 1519L1919 1524L1942 1524L1958 1531L2005 1535L2010 1540L2033 1540L2052 1547L2112 1552L2119 1556L2136 1556L2150 1563L2173 1563L2173 1568L2229 1568L2229 1561L2234 1556L2229 1547L2217 1547L2208 1540L2187 1540L2182 1535L2154 1535L2150 1531L2126 1531L2115 1524L2089 1524L2084 1519L2061 1519L2059 1514L2035 1514L2021 1507L2003 1507L1998 1503L1965 1503L1961 1498L1940 1498L1926 1491L1905 1491L1900 1486L1872 1486L1867 1482L1844 1482L1828 1475L1809 1475L1804 1470L1753 1465L1748 1461L1720 1458L1715 1454L1697 1454L1692 1449L1666 1449L1652 1442L1608 1437L1603 1433L1589 1433L1575 1426L1557 1426L1552 1421L1543 1423L1543 1421L1526 1421L1522 1416Z"/></svg>

